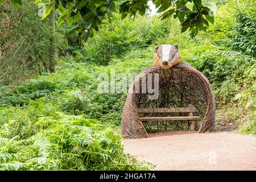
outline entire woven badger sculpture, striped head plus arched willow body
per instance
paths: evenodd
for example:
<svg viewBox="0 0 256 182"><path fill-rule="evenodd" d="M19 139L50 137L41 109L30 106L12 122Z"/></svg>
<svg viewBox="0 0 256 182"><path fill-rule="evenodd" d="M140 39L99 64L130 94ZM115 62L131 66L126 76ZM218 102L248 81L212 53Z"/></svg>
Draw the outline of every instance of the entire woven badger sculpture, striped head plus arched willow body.
<svg viewBox="0 0 256 182"><path fill-rule="evenodd" d="M201 117L203 118L200 126L197 128L198 132L204 133L205 131L214 131L215 104L212 88L210 87L210 83L207 77L205 77L203 73L197 71L188 63L182 61L179 53L179 47L177 44L164 44L161 46L155 46L153 65L144 69L141 73L138 74L137 78L135 78L133 84L130 86L129 92L127 93L122 115L122 136L124 138L148 137L147 131L141 121L137 108L139 107L139 102L137 101L140 101L141 98L146 97L147 94L137 93L135 89L135 85L140 83L142 81L142 77L147 75L148 73L164 73L160 74L161 77L159 77L159 79L162 80L176 79L176 83L175 80L173 80L173 82L176 85L174 88L174 92L177 93L177 96L180 95L179 92L183 92L178 90L179 88L182 88L182 83L187 82L187 84L190 85L189 88L193 88L192 90L187 89L186 91L193 92L189 99L192 98L193 100L195 100L192 104L196 108L200 108L198 113L200 113ZM169 76L166 77L166 75ZM162 86L166 85L163 84ZM168 90L169 89L164 92L167 92L168 94ZM204 102L196 102L196 99L203 99ZM187 100L187 102L191 101ZM143 107L149 108L150 103L151 102L147 103L144 101ZM145 106L145 104L147 104L147 106Z"/></svg>

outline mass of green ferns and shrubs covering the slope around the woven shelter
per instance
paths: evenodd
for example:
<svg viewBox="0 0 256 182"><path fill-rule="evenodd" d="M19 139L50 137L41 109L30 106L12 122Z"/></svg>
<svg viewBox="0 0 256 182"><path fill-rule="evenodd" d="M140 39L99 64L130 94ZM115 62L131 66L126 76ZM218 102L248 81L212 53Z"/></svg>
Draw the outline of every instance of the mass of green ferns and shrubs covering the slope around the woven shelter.
<svg viewBox="0 0 256 182"><path fill-rule="evenodd" d="M19 34L9 34L12 39L22 40L28 35L28 26L34 31L28 36L29 41L20 47L27 49L24 53L20 51L24 57L17 57L29 63L30 59L34 60L29 56L34 56L36 62L32 65L44 62L49 65L52 56L49 39L55 36L59 59L55 61L55 73L43 69L15 89L9 82L1 83L0 78L0 169L140 170L152 167L123 151L118 133L126 93L101 94L97 86L100 73L110 75L114 70L116 74L137 74L151 65L156 44L179 44L183 61L208 77L216 100L217 123L233 123L238 132L255 135L256 5L253 1L238 2L212 1L210 7L216 14L214 25L207 32L199 31L195 38L189 32L181 34L180 22L174 18L159 20L158 15L148 15L122 20L121 15L113 13L106 16L100 30L82 47L75 43L76 35L65 43L64 36L72 26L63 24L51 34L48 32L51 28L44 27L51 22L51 17L40 22L28 13L34 12L34 7L27 6L24 11L28 13L24 15L27 20L20 23ZM16 10L5 12L13 15L13 11ZM6 30L2 24L0 28L0 32ZM1 34L4 40L2 38ZM32 48L31 42L35 45ZM61 51L62 48L65 49ZM3 60L23 63L18 58L4 57L8 54L3 53L0 73L8 70L8 67L2 69ZM26 67L20 75L34 70ZM3 91L6 89L12 91Z"/></svg>

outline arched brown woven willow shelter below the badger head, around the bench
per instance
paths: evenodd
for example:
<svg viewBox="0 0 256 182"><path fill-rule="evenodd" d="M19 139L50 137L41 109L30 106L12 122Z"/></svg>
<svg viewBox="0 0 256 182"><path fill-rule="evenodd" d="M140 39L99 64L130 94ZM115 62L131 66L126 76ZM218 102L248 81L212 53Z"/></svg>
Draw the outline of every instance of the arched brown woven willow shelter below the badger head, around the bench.
<svg viewBox="0 0 256 182"><path fill-rule="evenodd" d="M159 76L159 96L155 100L148 99L148 96L152 94L142 92L142 77L148 73L152 73L152 75L158 73ZM154 80L154 76L152 80ZM135 92L137 84L139 84L139 92ZM184 62L169 69L162 69L159 65L148 67L139 73L133 85L130 86L122 115L122 135L124 138L146 138L148 137L147 131L189 130L186 121L150 121L145 124L138 113L138 108L190 106L195 107L194 114L201 118L196 121L195 130L199 133L213 131L215 124L213 92L203 73ZM170 115L170 113L145 114L143 117ZM172 113L172 116L182 117L185 114Z"/></svg>

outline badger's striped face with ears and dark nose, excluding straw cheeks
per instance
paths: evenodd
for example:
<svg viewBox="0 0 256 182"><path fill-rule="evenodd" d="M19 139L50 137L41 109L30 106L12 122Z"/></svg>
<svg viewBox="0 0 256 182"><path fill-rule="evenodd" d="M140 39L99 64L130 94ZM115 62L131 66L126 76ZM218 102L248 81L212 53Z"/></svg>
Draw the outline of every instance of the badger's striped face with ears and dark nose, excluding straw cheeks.
<svg viewBox="0 0 256 182"><path fill-rule="evenodd" d="M171 61L174 60L175 55L179 53L179 47L177 44L164 44L161 46L156 46L155 53L159 57L160 67L170 68Z"/></svg>

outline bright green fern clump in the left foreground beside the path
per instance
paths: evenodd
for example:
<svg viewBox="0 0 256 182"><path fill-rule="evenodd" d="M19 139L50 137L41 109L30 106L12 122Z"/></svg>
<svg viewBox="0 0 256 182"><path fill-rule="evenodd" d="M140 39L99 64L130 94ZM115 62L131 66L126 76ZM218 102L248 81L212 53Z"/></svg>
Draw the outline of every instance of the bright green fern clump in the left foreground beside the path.
<svg viewBox="0 0 256 182"><path fill-rule="evenodd" d="M130 162L112 130L82 115L59 115L39 118L41 131L30 138L0 138L0 170L147 169Z"/></svg>

